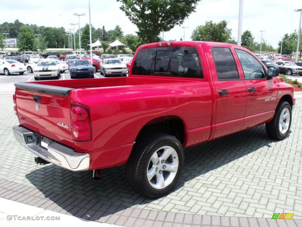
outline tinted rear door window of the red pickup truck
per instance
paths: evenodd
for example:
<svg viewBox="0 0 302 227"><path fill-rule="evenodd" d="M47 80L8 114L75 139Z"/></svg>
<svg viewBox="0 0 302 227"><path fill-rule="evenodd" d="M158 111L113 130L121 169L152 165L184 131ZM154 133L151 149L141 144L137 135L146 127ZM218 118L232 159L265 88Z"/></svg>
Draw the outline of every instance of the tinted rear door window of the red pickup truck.
<svg viewBox="0 0 302 227"><path fill-rule="evenodd" d="M230 48L213 47L212 54L219 80L239 79L236 63Z"/></svg>

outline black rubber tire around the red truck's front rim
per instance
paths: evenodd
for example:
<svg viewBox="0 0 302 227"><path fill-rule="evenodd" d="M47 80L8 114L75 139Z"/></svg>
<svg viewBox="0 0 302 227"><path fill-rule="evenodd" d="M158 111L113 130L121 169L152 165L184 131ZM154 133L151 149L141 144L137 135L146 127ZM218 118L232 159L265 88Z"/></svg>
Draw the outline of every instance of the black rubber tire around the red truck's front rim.
<svg viewBox="0 0 302 227"><path fill-rule="evenodd" d="M279 129L279 120L280 120L280 115L285 108L288 109L289 111L290 120L289 120L288 129L286 130L286 132L282 133L280 132ZM291 128L291 105L287 101L281 101L276 108L276 112L273 119L269 123L265 124L266 134L268 135L269 138L273 140L283 140L288 135L290 128Z"/></svg>

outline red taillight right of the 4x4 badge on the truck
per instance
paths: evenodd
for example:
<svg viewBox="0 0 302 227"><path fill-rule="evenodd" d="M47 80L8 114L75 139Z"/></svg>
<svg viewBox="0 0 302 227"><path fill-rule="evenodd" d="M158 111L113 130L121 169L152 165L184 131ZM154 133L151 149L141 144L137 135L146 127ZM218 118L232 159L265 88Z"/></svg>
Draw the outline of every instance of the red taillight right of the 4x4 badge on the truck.
<svg viewBox="0 0 302 227"><path fill-rule="evenodd" d="M73 140L89 141L92 139L91 120L88 107L71 102L70 119Z"/></svg>

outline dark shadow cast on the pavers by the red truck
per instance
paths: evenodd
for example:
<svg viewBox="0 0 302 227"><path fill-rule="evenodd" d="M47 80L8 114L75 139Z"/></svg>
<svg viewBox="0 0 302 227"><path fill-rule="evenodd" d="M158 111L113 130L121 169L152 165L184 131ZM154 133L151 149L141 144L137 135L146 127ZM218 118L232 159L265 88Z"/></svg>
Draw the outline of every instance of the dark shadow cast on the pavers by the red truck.
<svg viewBox="0 0 302 227"><path fill-rule="evenodd" d="M52 164L28 173L26 178L45 198L60 206L60 212L105 222L108 215L120 214L131 206L140 205L138 208L143 209L149 203L156 206L157 200L175 199L180 190L190 187L187 184L190 180L198 178L205 182L208 176L203 179L204 174L258 149L269 148L271 142L276 141L266 136L265 126L261 125L185 149L185 166L178 186L158 199L146 199L134 192L127 182L124 165L103 169L99 181L92 180L92 171L76 173Z"/></svg>

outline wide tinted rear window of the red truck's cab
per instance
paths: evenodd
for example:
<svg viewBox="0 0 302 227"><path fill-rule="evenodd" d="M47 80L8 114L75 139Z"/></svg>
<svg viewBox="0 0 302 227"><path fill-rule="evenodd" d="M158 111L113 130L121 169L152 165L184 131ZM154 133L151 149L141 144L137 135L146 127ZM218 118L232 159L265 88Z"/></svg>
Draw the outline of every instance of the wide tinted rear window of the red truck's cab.
<svg viewBox="0 0 302 227"><path fill-rule="evenodd" d="M132 74L203 78L199 55L193 47L142 49L134 60Z"/></svg>

